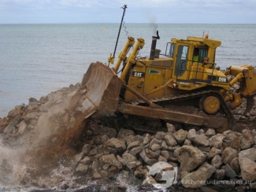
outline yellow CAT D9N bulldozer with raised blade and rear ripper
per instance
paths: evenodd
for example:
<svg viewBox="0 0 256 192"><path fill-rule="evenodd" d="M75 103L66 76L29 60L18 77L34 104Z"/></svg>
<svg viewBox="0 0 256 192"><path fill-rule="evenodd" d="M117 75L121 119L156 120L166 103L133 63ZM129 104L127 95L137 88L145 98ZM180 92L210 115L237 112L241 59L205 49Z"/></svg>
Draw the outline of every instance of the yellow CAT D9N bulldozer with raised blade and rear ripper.
<svg viewBox="0 0 256 192"><path fill-rule="evenodd" d="M125 114L127 118L160 119L223 132L234 125L231 110L243 98L247 98L245 112L254 106L254 67L243 64L221 71L215 63L221 41L207 34L204 38L172 38L165 53L160 54L156 49L158 39L157 32L149 57L138 56L145 44L143 38L135 42L135 38L128 37L114 67L91 63L82 80L87 88L83 102L87 117ZM228 78L229 74L233 78ZM235 84L239 89L231 92Z"/></svg>

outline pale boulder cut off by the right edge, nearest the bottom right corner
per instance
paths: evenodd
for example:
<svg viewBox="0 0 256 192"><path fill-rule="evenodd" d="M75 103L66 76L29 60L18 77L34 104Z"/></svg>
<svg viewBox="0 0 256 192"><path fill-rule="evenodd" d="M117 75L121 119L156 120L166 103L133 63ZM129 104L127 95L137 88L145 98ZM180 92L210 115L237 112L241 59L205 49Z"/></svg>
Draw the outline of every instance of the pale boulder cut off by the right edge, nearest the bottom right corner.
<svg viewBox="0 0 256 192"><path fill-rule="evenodd" d="M243 180L254 182L256 180L256 162L249 158L239 158L239 165Z"/></svg>

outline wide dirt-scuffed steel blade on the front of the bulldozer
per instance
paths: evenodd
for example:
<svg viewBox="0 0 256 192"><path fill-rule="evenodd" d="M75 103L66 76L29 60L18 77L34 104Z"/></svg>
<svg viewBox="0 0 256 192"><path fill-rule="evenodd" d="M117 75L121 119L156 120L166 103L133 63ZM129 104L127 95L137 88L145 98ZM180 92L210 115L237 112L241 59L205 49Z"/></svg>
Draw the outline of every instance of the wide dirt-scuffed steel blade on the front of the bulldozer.
<svg viewBox="0 0 256 192"><path fill-rule="evenodd" d="M81 85L87 89L82 103L85 118L92 114L113 114L117 110L122 81L111 68L100 62L91 63Z"/></svg>

